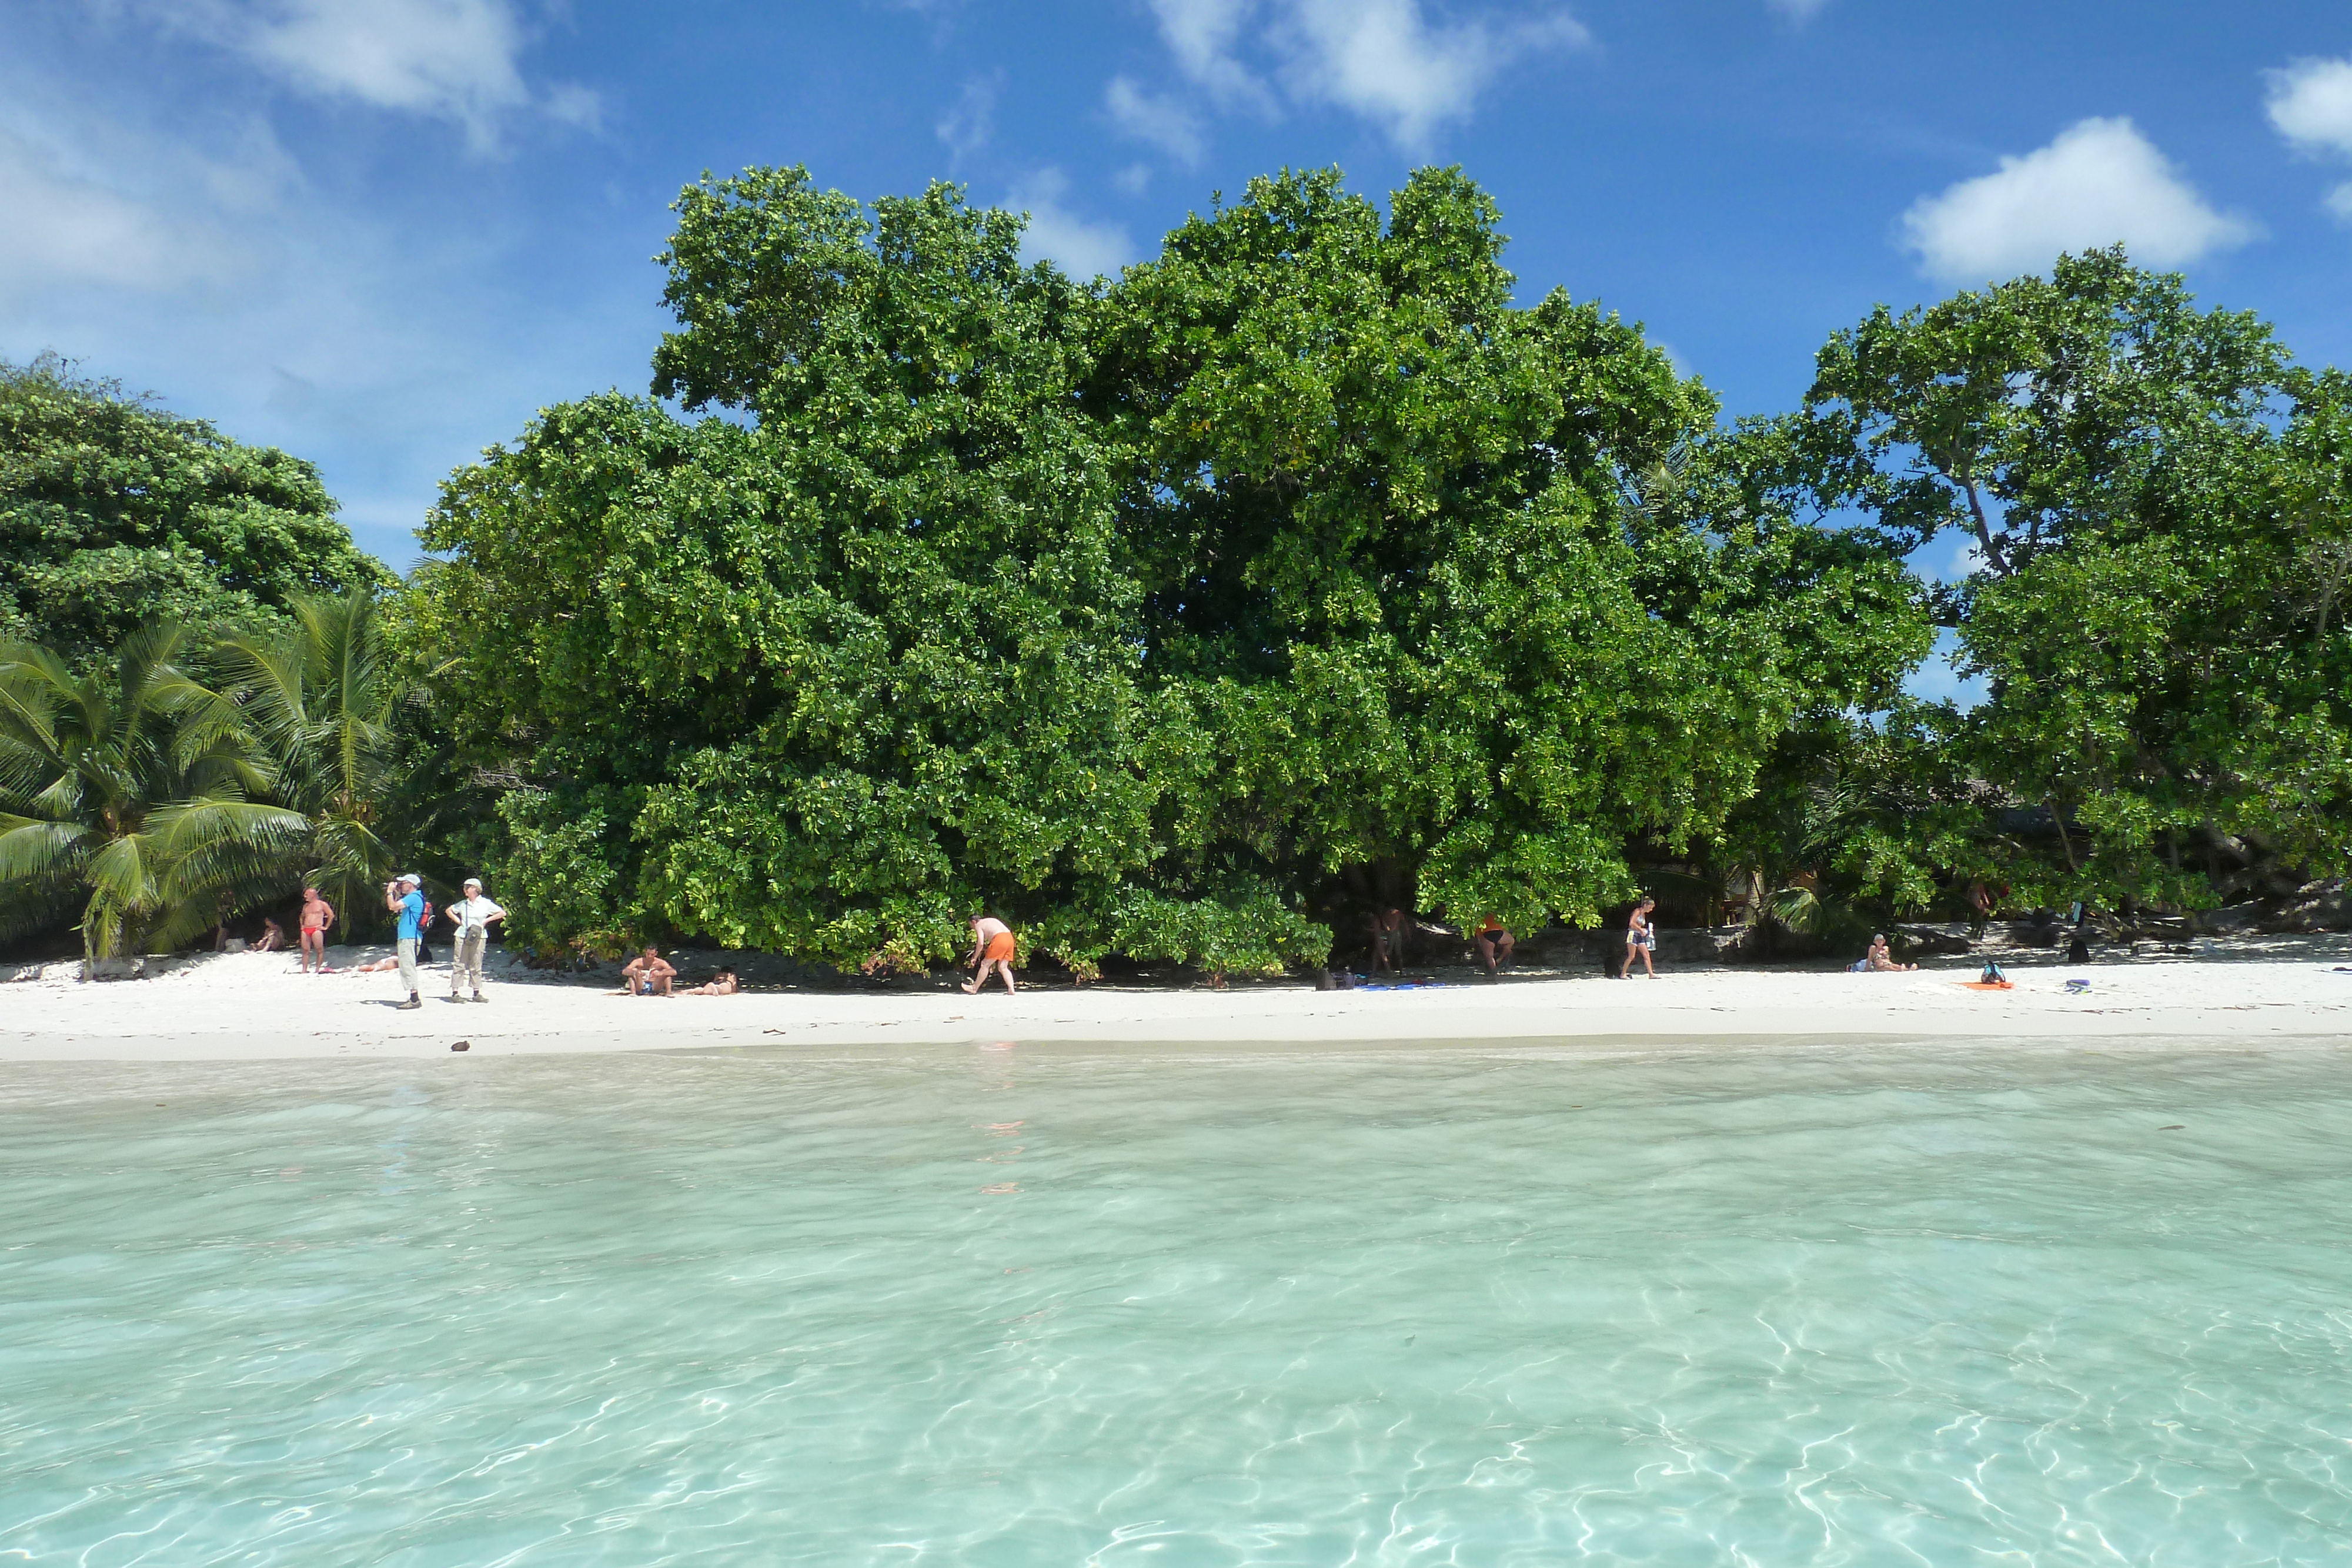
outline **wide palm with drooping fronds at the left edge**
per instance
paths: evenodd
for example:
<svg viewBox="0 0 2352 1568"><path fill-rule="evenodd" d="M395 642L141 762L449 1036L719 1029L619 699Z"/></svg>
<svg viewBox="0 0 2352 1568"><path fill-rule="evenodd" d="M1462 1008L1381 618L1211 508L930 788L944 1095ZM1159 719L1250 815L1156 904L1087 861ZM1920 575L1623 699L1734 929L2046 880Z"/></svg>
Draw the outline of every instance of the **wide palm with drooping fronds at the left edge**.
<svg viewBox="0 0 2352 1568"><path fill-rule="evenodd" d="M0 938L82 905L82 978L118 952L169 952L275 891L301 813L268 785L238 712L179 658L191 632L151 623L103 675L0 644Z"/></svg>

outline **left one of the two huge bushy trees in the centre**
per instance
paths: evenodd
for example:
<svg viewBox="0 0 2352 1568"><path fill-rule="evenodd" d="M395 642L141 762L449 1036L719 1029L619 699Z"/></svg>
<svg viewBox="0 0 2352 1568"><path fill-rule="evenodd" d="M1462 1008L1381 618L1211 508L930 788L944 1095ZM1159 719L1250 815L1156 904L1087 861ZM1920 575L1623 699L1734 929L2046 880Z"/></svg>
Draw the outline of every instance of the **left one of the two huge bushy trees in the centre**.
<svg viewBox="0 0 2352 1568"><path fill-rule="evenodd" d="M1131 917L1157 731L1087 292L946 186L868 212L800 169L687 190L668 263L659 386L741 418L553 409L428 531L416 635L466 755L527 778L522 931L917 964L983 903Z"/></svg>

